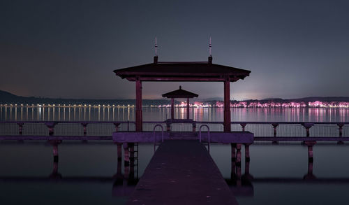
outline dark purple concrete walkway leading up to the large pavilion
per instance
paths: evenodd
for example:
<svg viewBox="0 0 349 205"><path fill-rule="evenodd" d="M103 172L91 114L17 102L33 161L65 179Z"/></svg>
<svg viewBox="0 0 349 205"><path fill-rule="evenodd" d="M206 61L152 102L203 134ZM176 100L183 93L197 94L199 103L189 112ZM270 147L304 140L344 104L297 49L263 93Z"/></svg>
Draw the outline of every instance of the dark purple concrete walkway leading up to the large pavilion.
<svg viewBox="0 0 349 205"><path fill-rule="evenodd" d="M237 204L205 146L165 141L156 150L127 204Z"/></svg>

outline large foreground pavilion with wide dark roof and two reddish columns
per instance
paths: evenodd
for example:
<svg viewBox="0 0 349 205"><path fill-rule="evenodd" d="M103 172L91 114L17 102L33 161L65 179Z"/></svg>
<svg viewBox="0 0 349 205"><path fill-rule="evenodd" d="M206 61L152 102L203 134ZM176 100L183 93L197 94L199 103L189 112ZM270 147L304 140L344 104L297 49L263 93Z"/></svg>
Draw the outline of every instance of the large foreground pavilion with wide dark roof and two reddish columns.
<svg viewBox="0 0 349 205"><path fill-rule="evenodd" d="M224 132L231 132L230 119L230 82L249 76L251 71L237 69L208 62L154 62L114 70L121 78L135 81L135 131L142 132L142 81L180 81L180 82L223 82L224 83Z"/></svg>

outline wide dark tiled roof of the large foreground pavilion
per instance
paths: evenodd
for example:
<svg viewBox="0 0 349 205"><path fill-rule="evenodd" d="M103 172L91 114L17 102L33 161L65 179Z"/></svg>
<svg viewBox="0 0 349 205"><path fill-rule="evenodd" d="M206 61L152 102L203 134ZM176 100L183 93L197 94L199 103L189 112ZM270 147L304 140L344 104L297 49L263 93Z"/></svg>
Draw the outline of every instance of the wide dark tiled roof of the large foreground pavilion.
<svg viewBox="0 0 349 205"><path fill-rule="evenodd" d="M135 81L224 81L235 82L249 76L251 71L211 62L154 62L125 69L114 73L121 78Z"/></svg>

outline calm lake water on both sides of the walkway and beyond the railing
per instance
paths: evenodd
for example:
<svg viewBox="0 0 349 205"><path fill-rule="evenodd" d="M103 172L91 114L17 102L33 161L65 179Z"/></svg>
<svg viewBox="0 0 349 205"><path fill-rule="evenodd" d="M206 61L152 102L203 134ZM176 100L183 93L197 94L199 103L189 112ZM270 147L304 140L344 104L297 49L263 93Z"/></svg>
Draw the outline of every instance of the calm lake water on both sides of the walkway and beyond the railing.
<svg viewBox="0 0 349 205"><path fill-rule="evenodd" d="M0 120L69 120L69 112L70 120L134 120L135 113L133 108L114 108L114 113L113 108L104 111L91 108L91 114L89 108L86 114L84 108L75 108L75 113L73 108L61 109L50 108L49 114L48 108L40 111L37 107L17 107L17 111L15 108L10 111L2 107ZM178 108L176 115L185 118L186 113L181 111ZM164 120L169 112L167 108L144 108L144 120ZM232 120L348 122L348 114L348 109L237 108L232 109ZM202 121L222 121L222 115L220 108L195 108L191 113L192 118ZM211 145L210 152L239 204L348 204L347 144L316 144L312 177L317 180L306 181L304 177L309 171L306 146L255 143L250 147L249 164L253 180L242 181L241 186L237 186L239 182L232 171L230 145ZM135 177L142 176L153 153L151 144L139 146ZM113 177L118 174L118 162L117 147L111 142L64 141L59 144L58 164L52 158L52 146L43 141L0 141L0 204L124 204L135 186ZM245 166L242 162L243 176ZM119 170L122 174L122 165Z"/></svg>

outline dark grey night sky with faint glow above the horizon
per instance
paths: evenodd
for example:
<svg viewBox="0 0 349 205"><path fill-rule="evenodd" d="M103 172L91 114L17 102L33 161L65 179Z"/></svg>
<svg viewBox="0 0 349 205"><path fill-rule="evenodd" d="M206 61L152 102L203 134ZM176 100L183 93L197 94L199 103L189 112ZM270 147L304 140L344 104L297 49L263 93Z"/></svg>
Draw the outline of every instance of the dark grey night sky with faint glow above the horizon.
<svg viewBox="0 0 349 205"><path fill-rule="evenodd" d="M232 99L349 96L349 1L0 1L0 90L23 96L135 98L112 72L159 61L251 70ZM143 83L223 97L223 83Z"/></svg>

